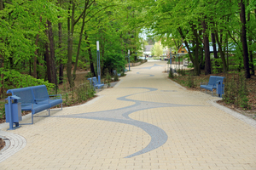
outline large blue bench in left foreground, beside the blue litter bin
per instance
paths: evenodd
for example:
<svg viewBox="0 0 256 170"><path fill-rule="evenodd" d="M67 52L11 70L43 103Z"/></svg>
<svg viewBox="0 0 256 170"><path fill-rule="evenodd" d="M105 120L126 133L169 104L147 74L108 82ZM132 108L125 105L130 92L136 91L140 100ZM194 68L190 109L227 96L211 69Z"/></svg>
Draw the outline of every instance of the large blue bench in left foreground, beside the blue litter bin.
<svg viewBox="0 0 256 170"><path fill-rule="evenodd" d="M12 94L20 97L18 102L21 103L21 111L32 111L32 124L33 115L49 108L61 104L61 94L49 95L45 85L9 89L7 94Z"/></svg>

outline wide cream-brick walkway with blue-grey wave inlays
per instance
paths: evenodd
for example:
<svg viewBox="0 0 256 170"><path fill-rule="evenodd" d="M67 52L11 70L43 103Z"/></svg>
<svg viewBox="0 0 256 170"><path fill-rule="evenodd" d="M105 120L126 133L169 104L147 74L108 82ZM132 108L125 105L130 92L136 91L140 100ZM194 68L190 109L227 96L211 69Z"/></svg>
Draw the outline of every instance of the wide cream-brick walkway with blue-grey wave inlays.
<svg viewBox="0 0 256 170"><path fill-rule="evenodd" d="M178 86L165 66L132 67L85 105L51 111L15 131L3 127L11 144L0 152L0 169L255 170L255 121Z"/></svg>

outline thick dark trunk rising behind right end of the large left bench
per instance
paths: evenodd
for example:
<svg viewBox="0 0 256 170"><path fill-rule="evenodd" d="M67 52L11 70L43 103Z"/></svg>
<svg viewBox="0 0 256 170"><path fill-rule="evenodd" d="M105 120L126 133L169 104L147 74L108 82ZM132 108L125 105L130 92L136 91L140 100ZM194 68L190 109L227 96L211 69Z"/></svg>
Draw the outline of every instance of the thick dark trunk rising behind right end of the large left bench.
<svg viewBox="0 0 256 170"><path fill-rule="evenodd" d="M54 36L52 32L52 25L49 20L47 20L48 24L48 38L49 38L49 59L50 59L50 72L52 82L55 83L55 89L58 88L57 82L57 74L56 74L56 66L55 66L55 47L54 47Z"/></svg>

